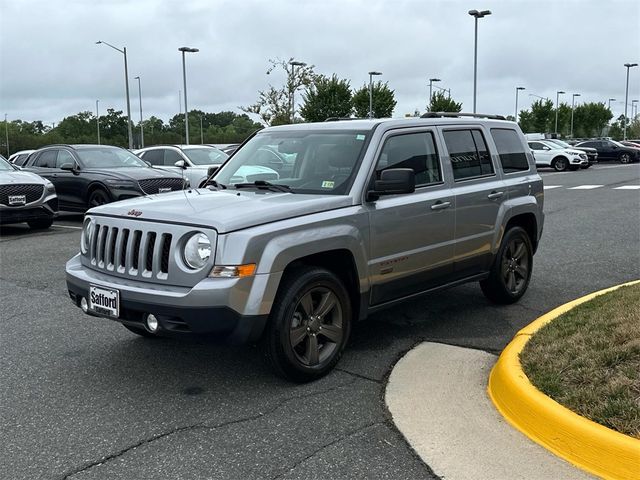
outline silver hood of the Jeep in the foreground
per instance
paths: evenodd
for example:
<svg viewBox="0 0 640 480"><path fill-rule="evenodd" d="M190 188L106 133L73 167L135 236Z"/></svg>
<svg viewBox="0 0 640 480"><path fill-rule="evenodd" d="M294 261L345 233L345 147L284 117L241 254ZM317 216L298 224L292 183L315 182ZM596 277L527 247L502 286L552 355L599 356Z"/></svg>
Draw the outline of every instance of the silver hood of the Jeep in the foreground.
<svg viewBox="0 0 640 480"><path fill-rule="evenodd" d="M189 223L226 233L350 205L351 198L343 195L200 188L107 204L88 214Z"/></svg>

